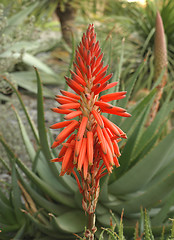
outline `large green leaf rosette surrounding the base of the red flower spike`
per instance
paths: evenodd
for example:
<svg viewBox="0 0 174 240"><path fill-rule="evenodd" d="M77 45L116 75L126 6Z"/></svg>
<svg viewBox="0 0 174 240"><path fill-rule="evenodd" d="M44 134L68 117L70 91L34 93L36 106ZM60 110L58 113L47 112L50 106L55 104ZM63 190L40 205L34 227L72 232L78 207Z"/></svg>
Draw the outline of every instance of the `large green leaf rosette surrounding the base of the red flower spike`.
<svg viewBox="0 0 174 240"><path fill-rule="evenodd" d="M127 98L120 101L121 107L127 105L137 76L145 64L142 63L129 79ZM121 65L118 69L121 69ZM113 76L113 81L118 76L117 71ZM11 174L12 183L9 196L0 191L0 236L2 239L12 237L20 239L24 236L34 237L37 232L36 239L50 239L50 237L52 239L73 239L75 236L73 237L72 233L81 235L83 232L86 216L81 207L82 199L74 177L59 177L61 166L59 163L50 163L51 158L57 157L57 152L50 151L49 143L53 143L53 140L44 123L43 91L37 71L36 77L38 129L32 123L19 92L6 79L18 96L35 143L33 146L26 127L15 110L32 168L28 168L15 155L1 135L0 142L7 152L9 163L2 158L0 160ZM161 76L156 86L160 78ZM111 119L119 123L121 128L127 132L128 140L126 145L124 141L120 142L122 152L120 168L112 175L104 177L101 182L101 194L96 209L98 229L101 226L109 226L110 209L115 218L119 219L124 208L123 221L126 239L130 239L134 234L135 223L141 215L141 206L149 210L152 232L155 237L161 235L162 227L159 225L167 222L168 217L172 217L174 130L171 130L168 135L164 131L174 107L174 100L171 100L172 91L172 89L168 91L164 104L148 127L145 124L156 93L155 86L144 99L129 109L132 118L128 121L126 119L121 121L119 117ZM21 195L23 200L21 200ZM165 234L169 234L170 229L171 225L166 225Z"/></svg>

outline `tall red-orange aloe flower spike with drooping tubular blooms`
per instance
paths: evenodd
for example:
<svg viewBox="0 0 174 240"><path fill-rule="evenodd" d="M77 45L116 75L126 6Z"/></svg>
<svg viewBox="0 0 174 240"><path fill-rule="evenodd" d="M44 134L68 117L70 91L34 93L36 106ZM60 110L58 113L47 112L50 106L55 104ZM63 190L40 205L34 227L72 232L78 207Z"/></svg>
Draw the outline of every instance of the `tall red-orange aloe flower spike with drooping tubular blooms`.
<svg viewBox="0 0 174 240"><path fill-rule="evenodd" d="M60 106L52 109L66 114L66 121L51 126L52 129L65 127L52 145L55 148L62 144L58 157L52 161L62 162L60 176L74 174L83 194L83 208L88 214L95 212L100 178L111 173L114 165L119 167L118 142L121 138L127 138L102 113L130 117L125 109L109 103L124 98L125 91L99 96L117 85L117 82L109 83L112 74L106 74L107 68L96 41L94 26L89 25L76 51L74 71L70 70L71 78L65 77L75 93L60 90L62 95L56 96Z"/></svg>

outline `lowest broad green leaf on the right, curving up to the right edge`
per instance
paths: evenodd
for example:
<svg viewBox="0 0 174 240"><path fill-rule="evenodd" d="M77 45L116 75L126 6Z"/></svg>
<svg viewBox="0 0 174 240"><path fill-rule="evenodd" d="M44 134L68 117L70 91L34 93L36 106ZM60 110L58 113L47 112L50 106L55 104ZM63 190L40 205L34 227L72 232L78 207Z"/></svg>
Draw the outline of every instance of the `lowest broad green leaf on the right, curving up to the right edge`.
<svg viewBox="0 0 174 240"><path fill-rule="evenodd" d="M124 208L126 214L138 213L140 207L152 208L159 200L162 200L173 190L174 173L162 179L160 183L149 187L148 191L133 197L129 201L115 205L115 202L105 203L104 205L112 210L121 211Z"/></svg>

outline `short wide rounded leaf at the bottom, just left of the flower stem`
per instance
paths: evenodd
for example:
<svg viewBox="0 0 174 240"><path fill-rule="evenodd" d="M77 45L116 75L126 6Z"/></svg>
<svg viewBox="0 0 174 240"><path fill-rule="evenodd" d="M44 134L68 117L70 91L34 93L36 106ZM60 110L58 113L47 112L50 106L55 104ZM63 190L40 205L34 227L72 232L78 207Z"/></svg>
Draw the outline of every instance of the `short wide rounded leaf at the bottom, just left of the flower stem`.
<svg viewBox="0 0 174 240"><path fill-rule="evenodd" d="M58 228L65 232L82 232L86 225L86 216L83 211L73 210L54 217Z"/></svg>

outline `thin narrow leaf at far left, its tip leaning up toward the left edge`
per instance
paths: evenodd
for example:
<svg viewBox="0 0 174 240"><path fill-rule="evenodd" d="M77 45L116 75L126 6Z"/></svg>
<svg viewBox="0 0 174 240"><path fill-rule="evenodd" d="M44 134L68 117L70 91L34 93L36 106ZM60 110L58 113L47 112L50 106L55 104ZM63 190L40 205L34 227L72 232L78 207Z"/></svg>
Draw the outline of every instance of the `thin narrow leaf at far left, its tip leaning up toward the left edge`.
<svg viewBox="0 0 174 240"><path fill-rule="evenodd" d="M16 93L16 95L17 95L17 97L19 99L19 102L20 102L20 104L22 106L22 109L24 110L24 113L25 113L25 116L26 116L26 118L28 120L28 123L29 123L29 125L31 127L31 130L32 130L32 132L34 134L34 137L35 137L36 141L39 143L37 130L36 130L35 125L33 124L32 120L31 120L31 118L30 118L30 115L27 112L27 109L26 109L26 107L24 105L24 102L22 101L20 93L18 92L16 87L8 79L4 78L4 80L12 87L13 91Z"/></svg>

